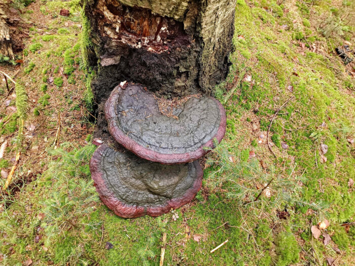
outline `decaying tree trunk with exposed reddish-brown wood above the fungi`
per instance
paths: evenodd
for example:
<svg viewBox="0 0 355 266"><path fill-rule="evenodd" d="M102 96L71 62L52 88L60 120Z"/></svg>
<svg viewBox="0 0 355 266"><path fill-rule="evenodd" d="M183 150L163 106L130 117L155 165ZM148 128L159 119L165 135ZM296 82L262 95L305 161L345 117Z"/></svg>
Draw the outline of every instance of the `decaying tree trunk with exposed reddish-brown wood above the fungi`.
<svg viewBox="0 0 355 266"><path fill-rule="evenodd" d="M122 81L158 96L212 94L226 77L236 0L88 2L89 41L100 64L97 103ZM95 60L93 65L95 64Z"/></svg>

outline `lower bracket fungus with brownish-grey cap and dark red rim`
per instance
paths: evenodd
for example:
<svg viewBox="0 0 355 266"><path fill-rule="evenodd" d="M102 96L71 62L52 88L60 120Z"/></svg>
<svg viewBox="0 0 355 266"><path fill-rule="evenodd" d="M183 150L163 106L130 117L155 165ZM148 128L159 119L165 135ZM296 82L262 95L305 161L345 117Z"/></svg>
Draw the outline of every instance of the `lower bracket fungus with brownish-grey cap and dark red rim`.
<svg viewBox="0 0 355 266"><path fill-rule="evenodd" d="M101 144L90 160L101 201L124 218L159 216L196 196L203 171L199 163L163 165Z"/></svg>

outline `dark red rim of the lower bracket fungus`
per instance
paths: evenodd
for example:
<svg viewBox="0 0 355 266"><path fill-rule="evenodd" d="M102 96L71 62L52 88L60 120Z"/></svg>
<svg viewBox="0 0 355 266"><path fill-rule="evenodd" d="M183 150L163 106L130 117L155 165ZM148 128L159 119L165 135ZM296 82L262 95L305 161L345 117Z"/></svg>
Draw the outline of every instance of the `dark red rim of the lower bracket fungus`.
<svg viewBox="0 0 355 266"><path fill-rule="evenodd" d="M170 199L169 201L166 201L165 204L154 207L137 206L124 203L119 200L112 191L110 191L103 179L103 173L100 169L100 162L102 154L107 148L110 147L106 144L101 144L96 149L90 160L90 172L91 177L94 180L94 186L96 187L96 191L99 194L100 200L118 216L121 216L123 218L136 218L144 215L149 215L153 217L162 215L164 213L169 212L171 208L177 209L191 202L202 186L203 171L200 164L195 161L191 164L194 164L197 177L193 185L187 189L183 196L179 198Z"/></svg>

